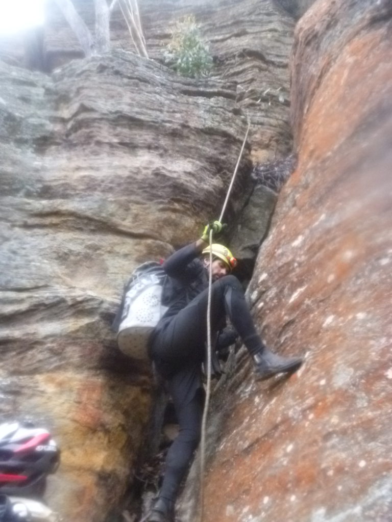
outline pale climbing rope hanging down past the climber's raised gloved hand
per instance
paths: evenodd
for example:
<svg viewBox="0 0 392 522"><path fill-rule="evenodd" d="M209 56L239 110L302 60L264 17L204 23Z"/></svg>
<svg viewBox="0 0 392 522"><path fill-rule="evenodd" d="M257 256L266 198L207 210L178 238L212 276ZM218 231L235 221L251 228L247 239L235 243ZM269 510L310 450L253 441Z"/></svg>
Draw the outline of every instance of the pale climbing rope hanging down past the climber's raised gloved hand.
<svg viewBox="0 0 392 522"><path fill-rule="evenodd" d="M238 165L241 161L241 157L244 152L246 139L248 137L250 128L250 122L248 121L248 128L246 129L245 138L243 141L243 146L241 147L238 161L236 164L236 167L234 169L234 174L232 176L232 181L230 182L230 185L227 189L226 199L224 201L221 216L219 218L219 221L222 222L223 215L226 210L226 205L228 198L230 196L230 192L232 191L234 179L237 174ZM210 230L210 267L212 264L212 230ZM208 414L208 408L210 405L210 396L211 396L211 355L212 355L212 348L211 348L211 287L212 287L212 271L209 270L209 286L208 286L208 303L207 303L207 383L206 383L206 390L205 390L205 403L204 403L204 410L203 410L203 419L201 423L201 440L200 440L200 522L203 521L203 511L204 511L204 468L205 468L205 433L206 433L206 425L207 425L207 414Z"/></svg>

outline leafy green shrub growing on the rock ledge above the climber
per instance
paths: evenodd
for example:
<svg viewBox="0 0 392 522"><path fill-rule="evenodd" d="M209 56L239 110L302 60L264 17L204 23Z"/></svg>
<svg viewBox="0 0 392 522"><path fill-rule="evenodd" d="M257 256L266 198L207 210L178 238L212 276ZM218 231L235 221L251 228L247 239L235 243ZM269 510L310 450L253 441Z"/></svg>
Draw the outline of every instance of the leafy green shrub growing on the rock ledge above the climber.
<svg viewBox="0 0 392 522"><path fill-rule="evenodd" d="M164 51L165 61L182 76L206 76L212 67L212 56L199 27L193 15L178 20Z"/></svg>

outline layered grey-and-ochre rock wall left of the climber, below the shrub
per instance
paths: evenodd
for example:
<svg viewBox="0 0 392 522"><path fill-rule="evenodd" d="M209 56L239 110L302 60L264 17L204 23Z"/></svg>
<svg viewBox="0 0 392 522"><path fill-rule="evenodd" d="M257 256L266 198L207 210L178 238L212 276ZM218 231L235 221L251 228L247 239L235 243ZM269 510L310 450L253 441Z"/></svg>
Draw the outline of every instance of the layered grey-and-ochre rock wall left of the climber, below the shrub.
<svg viewBox="0 0 392 522"><path fill-rule="evenodd" d="M151 404L148 365L121 356L109 329L118 295L137 264L220 212L246 123L232 84L123 52L51 77L2 66L0 81L0 414L52 430L51 507L105 520Z"/></svg>

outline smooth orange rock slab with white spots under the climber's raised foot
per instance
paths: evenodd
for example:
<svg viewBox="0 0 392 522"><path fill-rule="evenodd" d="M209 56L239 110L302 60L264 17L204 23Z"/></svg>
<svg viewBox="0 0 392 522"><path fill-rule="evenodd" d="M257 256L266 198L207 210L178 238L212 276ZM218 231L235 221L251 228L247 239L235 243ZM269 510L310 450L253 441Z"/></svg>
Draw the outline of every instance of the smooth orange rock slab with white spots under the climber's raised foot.
<svg viewBox="0 0 392 522"><path fill-rule="evenodd" d="M205 521L390 520L391 16L320 0L298 22L298 168L249 299L268 345L306 363L258 384L239 352L212 413Z"/></svg>

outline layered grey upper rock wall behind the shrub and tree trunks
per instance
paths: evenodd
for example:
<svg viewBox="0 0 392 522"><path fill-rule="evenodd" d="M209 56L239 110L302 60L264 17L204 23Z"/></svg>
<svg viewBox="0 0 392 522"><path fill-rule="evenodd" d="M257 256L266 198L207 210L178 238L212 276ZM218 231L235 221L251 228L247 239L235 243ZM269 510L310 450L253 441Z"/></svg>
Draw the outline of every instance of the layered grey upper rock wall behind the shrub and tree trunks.
<svg viewBox="0 0 392 522"><path fill-rule="evenodd" d="M73 0L78 13L94 33L94 3ZM194 15L214 56L213 76L238 86L236 100L252 123L252 157L264 161L291 150L289 72L294 20L310 0L298 0L289 11L273 0L145 0L140 3L147 50L163 63L164 46L174 22ZM287 7L287 6L284 6ZM47 5L45 61L48 71L83 56L80 45L54 2ZM111 45L134 52L121 11L114 8ZM23 64L21 37L0 37L0 58Z"/></svg>

